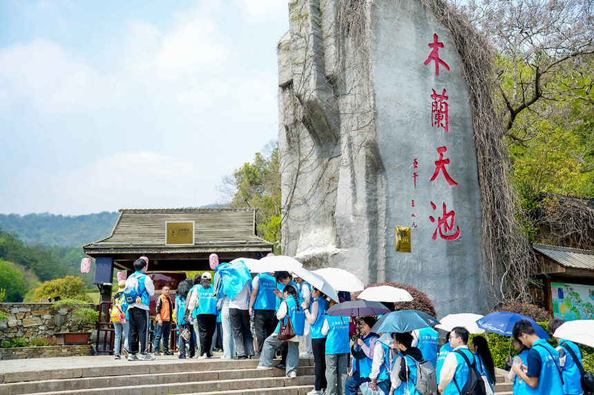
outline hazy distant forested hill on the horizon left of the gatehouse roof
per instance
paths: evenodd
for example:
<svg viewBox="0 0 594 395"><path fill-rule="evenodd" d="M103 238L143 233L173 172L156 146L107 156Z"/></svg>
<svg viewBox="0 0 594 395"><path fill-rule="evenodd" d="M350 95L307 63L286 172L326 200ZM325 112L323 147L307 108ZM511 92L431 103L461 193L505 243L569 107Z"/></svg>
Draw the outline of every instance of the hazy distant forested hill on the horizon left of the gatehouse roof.
<svg viewBox="0 0 594 395"><path fill-rule="evenodd" d="M81 247L111 234L117 212L77 216L56 214L0 214L0 228L16 232L26 245Z"/></svg>

